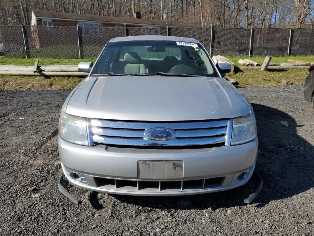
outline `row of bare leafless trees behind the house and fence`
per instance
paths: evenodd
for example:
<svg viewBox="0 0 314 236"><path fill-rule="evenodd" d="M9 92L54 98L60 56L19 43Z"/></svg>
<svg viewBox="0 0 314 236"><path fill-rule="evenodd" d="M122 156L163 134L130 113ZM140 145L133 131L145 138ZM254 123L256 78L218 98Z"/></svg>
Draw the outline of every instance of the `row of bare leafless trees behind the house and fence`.
<svg viewBox="0 0 314 236"><path fill-rule="evenodd" d="M314 22L314 0L0 0L0 24L30 24L31 10L161 19L184 25L258 27Z"/></svg>

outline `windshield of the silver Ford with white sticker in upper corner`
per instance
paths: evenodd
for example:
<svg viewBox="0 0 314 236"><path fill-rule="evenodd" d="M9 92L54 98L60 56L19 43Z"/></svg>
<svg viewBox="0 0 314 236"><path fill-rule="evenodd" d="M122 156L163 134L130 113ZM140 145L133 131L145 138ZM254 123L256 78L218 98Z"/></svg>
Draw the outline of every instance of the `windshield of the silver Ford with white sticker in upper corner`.
<svg viewBox="0 0 314 236"><path fill-rule="evenodd" d="M218 76L202 45L176 41L108 43L92 74Z"/></svg>

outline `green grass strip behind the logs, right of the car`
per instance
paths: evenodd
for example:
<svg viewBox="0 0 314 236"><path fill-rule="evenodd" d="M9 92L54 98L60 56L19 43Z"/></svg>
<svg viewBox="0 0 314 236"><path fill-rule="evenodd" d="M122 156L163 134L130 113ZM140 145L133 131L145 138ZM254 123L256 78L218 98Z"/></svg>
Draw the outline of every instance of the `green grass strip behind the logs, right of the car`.
<svg viewBox="0 0 314 236"><path fill-rule="evenodd" d="M237 66L241 66L238 61L239 59L249 59L253 60L255 62L258 62L262 65L265 56L254 56L254 57L248 57L248 56L236 56L236 57L227 57L229 60L235 63ZM293 60L301 60L309 63L314 63L314 55L307 55L307 56L289 56L289 57L273 57L270 61L270 63L282 63L282 62L288 62L288 59L293 59Z"/></svg>

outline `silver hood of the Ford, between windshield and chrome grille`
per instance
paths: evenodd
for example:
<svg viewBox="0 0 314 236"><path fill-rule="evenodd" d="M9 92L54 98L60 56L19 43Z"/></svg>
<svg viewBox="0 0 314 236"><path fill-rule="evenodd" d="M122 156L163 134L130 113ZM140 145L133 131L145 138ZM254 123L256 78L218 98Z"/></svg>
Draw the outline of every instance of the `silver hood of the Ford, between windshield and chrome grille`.
<svg viewBox="0 0 314 236"><path fill-rule="evenodd" d="M66 112L87 118L187 121L251 112L248 101L224 78L88 77L69 96Z"/></svg>

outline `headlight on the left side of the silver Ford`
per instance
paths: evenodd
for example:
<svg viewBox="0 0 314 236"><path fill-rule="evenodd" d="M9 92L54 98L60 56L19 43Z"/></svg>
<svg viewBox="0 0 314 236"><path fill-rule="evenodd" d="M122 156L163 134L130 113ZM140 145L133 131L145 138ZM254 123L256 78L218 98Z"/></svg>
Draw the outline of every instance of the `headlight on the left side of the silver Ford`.
<svg viewBox="0 0 314 236"><path fill-rule="evenodd" d="M86 118L61 112L59 134L62 139L68 142L88 145Z"/></svg>

